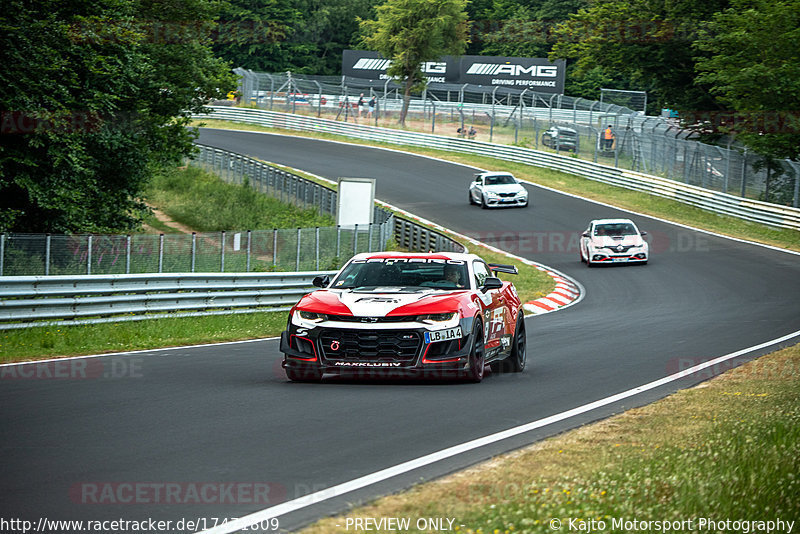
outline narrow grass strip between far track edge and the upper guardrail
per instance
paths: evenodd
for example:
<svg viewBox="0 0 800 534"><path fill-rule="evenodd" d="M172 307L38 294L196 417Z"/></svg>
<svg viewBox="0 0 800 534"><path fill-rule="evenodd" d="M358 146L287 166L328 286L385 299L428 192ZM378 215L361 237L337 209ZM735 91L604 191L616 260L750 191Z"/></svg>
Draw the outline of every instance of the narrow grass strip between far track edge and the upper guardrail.
<svg viewBox="0 0 800 534"><path fill-rule="evenodd" d="M195 121L195 125L204 125L209 128L239 129L249 131L262 131L272 133L284 133L303 137L318 139L331 139L346 141L348 143L362 144L368 146L380 146L393 149L402 149L415 154L432 156L455 163L472 165L475 167L491 169L496 171L508 171L514 173L518 178L534 184L543 185L566 193L580 195L585 198L605 202L614 206L629 209L639 213L652 215L669 221L686 224L696 228L701 228L711 232L746 239L790 250L800 251L800 231L789 229L778 229L762 224L742 221L735 217L717 215L715 213L701 210L674 200L655 197L638 191L631 191L621 187L588 180L579 176L566 174L563 172L542 169L522 163L511 163L501 159L472 156L447 152L443 150L423 149L406 145L392 145L388 143L367 142L343 136L298 132L294 130L279 130L265 128L252 124L244 124L220 120ZM467 177L465 177L466 179ZM466 183L465 183L466 188ZM536 199L533 198L533 208L536 208ZM580 231L588 221L575 221L575 231Z"/></svg>

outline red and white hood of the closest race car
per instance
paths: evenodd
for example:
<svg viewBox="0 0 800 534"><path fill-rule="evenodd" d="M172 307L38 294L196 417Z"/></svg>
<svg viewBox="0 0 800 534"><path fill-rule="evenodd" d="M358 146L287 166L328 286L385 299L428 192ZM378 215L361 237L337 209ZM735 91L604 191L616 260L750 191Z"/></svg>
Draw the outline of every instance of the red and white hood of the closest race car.
<svg viewBox="0 0 800 534"><path fill-rule="evenodd" d="M386 317L389 315L422 315L458 311L467 291L420 289L400 292L395 288L374 291L322 289L303 297L297 308L330 315Z"/></svg>

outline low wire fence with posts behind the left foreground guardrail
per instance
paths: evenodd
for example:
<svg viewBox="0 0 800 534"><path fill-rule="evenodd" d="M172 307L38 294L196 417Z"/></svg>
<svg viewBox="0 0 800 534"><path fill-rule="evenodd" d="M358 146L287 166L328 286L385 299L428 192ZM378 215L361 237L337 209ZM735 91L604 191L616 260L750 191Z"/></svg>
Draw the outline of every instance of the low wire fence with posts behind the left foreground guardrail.
<svg viewBox="0 0 800 534"><path fill-rule="evenodd" d="M338 269L384 250L392 221L195 234L0 234L0 276Z"/></svg>

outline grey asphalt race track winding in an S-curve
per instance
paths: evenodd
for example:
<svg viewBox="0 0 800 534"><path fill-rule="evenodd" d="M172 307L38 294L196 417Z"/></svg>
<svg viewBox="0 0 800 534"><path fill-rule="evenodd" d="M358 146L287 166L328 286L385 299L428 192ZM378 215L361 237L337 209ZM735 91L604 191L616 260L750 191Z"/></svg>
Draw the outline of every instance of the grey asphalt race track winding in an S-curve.
<svg viewBox="0 0 800 534"><path fill-rule="evenodd" d="M54 378L61 376L55 363L35 373L0 368L0 517L206 518L200 527L210 527L212 518L268 508L800 330L798 255L533 186L528 209L482 210L467 203L473 169L399 152L218 130L203 130L200 142L334 180L377 178L381 200L562 271L586 296L529 318L527 371L489 374L482 384L289 383L274 339L71 360L72 378ZM590 219L616 216L648 231L650 264L587 269L578 260L578 233ZM729 367L304 507L281 517L281 528L651 402Z"/></svg>

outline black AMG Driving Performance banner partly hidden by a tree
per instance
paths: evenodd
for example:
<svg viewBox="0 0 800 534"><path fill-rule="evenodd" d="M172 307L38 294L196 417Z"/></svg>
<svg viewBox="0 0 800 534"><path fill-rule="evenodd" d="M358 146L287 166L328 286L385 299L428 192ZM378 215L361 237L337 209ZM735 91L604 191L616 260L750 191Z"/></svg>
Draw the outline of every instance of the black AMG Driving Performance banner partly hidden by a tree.
<svg viewBox="0 0 800 534"><path fill-rule="evenodd" d="M342 74L368 80L387 80L391 61L377 52L345 50ZM516 89L530 88L543 93L564 93L566 62L543 58L504 56L444 56L439 61L422 64L422 72L431 82Z"/></svg>

